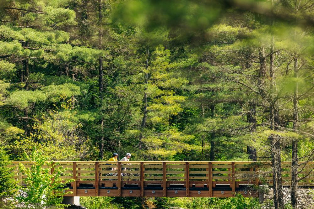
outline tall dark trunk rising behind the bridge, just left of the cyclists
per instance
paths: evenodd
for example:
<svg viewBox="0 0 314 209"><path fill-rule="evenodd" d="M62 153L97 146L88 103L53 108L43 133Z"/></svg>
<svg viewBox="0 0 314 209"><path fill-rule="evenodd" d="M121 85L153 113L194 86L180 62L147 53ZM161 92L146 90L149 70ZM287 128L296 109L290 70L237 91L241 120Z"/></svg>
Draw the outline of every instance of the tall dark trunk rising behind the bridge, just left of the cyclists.
<svg viewBox="0 0 314 209"><path fill-rule="evenodd" d="M101 21L102 21L102 14L101 14L101 0L98 0L98 12L99 12L99 31L98 31L98 44L99 49L101 49L102 44L102 29L101 29ZM99 56L99 94L100 94L100 109L102 111L102 102L103 102L103 69L102 69L102 57ZM100 112L102 114L102 112ZM99 159L102 159L104 157L104 118L101 117L100 120L100 144L99 144Z"/></svg>

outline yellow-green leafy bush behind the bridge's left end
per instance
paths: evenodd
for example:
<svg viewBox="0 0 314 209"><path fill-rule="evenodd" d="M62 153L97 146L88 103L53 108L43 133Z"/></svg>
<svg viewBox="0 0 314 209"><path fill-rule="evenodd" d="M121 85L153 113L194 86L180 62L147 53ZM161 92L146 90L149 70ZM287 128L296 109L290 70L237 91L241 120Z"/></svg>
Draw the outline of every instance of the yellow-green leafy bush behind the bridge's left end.
<svg viewBox="0 0 314 209"><path fill-rule="evenodd" d="M93 147L89 138L80 135L82 124L73 120L69 111L50 112L35 119L33 133L20 141L15 141L11 149L19 159L26 160L24 153L35 150L45 153L50 160L88 159Z"/></svg>

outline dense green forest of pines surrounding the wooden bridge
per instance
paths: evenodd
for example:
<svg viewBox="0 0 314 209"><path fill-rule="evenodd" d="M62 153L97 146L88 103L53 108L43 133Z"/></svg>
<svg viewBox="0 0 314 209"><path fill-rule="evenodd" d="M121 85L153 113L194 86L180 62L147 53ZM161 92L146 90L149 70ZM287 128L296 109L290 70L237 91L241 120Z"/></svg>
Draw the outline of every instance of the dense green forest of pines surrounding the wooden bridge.
<svg viewBox="0 0 314 209"><path fill-rule="evenodd" d="M44 208L36 190L15 201L10 160L131 153L271 162L272 208L296 209L298 174L314 161L313 17L314 0L0 0L0 208ZM292 164L287 204L283 161ZM63 208L48 194L45 207ZM242 196L80 201L263 208Z"/></svg>

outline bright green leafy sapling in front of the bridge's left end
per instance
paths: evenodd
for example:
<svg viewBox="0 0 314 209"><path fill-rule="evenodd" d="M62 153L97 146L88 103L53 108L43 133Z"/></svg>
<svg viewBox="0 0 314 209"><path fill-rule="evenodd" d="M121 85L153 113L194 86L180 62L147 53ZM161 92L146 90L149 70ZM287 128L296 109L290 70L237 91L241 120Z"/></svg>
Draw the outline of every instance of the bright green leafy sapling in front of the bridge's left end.
<svg viewBox="0 0 314 209"><path fill-rule="evenodd" d="M31 165L30 168L25 168L22 164L19 165L19 169L27 175L26 179L24 179L27 187L22 188L26 196L19 196L19 201L26 206L38 209L46 206L54 206L60 209L64 208L66 205L61 204L63 195L69 194L63 192L68 189L64 188L64 186L71 180L62 182L63 179L61 179L61 175L64 171L62 166L58 166L58 163L47 163L47 157L45 157L43 152L37 151L36 147L34 151L32 151L31 156L26 156L26 159L34 161L34 164ZM50 167L52 166L55 168L51 174Z"/></svg>

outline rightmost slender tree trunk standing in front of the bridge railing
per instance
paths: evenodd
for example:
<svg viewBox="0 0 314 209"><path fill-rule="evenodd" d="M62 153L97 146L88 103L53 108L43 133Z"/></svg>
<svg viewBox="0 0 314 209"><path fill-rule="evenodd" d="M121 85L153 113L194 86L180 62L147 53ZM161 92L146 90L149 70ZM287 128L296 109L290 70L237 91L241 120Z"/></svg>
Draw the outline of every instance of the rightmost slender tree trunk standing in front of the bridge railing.
<svg viewBox="0 0 314 209"><path fill-rule="evenodd" d="M298 58L294 59L294 77L298 77ZM298 129L298 83L295 83L293 94L293 129ZM291 162L291 204L294 209L298 205L298 141L292 141L292 162Z"/></svg>

